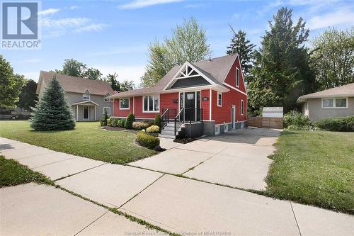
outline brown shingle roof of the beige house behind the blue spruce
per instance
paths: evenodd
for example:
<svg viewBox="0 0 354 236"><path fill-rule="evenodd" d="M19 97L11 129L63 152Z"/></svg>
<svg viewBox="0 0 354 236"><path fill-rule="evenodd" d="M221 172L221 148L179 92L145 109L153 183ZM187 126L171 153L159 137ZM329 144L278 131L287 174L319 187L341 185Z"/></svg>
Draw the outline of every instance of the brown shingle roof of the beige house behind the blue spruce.
<svg viewBox="0 0 354 236"><path fill-rule="evenodd" d="M59 80L64 90L67 92L83 94L86 90L89 90L90 94L103 96L107 94L107 92L110 93L110 95L118 94L117 91L113 91L110 84L100 80L72 77L67 74L57 74L55 72L40 72L40 78L44 79L45 84L48 84L53 77Z"/></svg>

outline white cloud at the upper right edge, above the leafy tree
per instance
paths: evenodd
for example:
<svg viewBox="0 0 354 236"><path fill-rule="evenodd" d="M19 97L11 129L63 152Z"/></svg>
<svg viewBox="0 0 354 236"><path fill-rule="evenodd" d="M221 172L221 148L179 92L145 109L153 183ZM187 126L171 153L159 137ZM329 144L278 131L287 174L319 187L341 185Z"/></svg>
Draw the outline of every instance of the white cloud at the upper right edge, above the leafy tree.
<svg viewBox="0 0 354 236"><path fill-rule="evenodd" d="M352 24L354 12L350 9L339 9L338 11L326 13L319 16L313 16L307 21L307 26L311 30L336 26L343 23Z"/></svg>

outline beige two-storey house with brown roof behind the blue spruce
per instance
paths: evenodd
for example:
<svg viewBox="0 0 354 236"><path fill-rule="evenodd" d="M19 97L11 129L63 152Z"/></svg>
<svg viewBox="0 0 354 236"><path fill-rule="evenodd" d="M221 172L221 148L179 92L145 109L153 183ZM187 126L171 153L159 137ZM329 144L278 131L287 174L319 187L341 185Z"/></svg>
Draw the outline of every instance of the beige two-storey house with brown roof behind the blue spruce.
<svg viewBox="0 0 354 236"><path fill-rule="evenodd" d="M76 121L100 120L104 111L112 115L112 101L107 96L118 92L107 82L41 71L36 94L40 96L53 77L62 84Z"/></svg>

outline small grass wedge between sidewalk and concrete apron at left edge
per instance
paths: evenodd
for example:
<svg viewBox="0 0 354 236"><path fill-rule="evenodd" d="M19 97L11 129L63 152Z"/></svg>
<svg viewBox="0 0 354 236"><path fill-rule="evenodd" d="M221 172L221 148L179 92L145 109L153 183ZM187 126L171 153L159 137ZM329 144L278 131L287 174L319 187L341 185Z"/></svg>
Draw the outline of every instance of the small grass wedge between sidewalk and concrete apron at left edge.
<svg viewBox="0 0 354 236"><path fill-rule="evenodd" d="M33 181L40 184L53 184L46 176L33 172L16 160L5 159L4 156L0 156L0 188Z"/></svg>

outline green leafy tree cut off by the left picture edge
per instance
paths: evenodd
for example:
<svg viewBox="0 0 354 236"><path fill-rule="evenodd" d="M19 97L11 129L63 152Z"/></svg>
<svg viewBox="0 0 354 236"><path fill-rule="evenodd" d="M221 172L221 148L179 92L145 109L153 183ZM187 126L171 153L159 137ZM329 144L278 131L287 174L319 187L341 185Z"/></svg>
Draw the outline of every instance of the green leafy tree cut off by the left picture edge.
<svg viewBox="0 0 354 236"><path fill-rule="evenodd" d="M23 75L15 74L10 63L0 55L0 106L15 107L24 84Z"/></svg>

